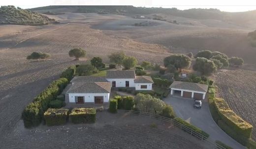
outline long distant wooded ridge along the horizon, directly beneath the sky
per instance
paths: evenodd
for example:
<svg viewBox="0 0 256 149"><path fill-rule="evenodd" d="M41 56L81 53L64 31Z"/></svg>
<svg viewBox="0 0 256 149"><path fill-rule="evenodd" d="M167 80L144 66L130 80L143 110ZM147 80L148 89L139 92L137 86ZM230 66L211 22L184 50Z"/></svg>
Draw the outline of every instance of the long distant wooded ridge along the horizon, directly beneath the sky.
<svg viewBox="0 0 256 149"><path fill-rule="evenodd" d="M133 6L45 6L30 9L44 13L47 11L62 12L80 12L80 13L99 13L99 14L118 14L118 15L148 15L165 14L177 17L184 17L197 20L220 20L230 24L236 24L244 27L256 28L256 10L247 12L223 12L218 9L188 9L179 10L177 8L146 8Z"/></svg>

